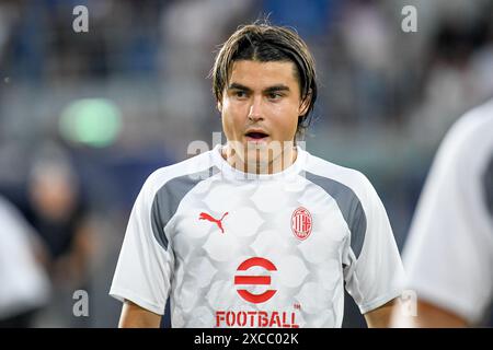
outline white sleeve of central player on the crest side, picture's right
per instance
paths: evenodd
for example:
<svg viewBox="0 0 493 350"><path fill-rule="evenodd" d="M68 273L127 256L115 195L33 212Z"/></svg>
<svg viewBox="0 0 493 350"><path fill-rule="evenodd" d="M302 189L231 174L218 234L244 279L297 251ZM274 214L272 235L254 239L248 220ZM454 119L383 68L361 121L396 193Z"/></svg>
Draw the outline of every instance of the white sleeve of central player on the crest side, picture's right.
<svg viewBox="0 0 493 350"><path fill-rule="evenodd" d="M386 209L371 184L364 177L365 190L358 194L360 210L354 211L360 233L360 252L348 248L344 268L346 290L366 314L402 293L404 270ZM365 224L366 222L366 224Z"/></svg>

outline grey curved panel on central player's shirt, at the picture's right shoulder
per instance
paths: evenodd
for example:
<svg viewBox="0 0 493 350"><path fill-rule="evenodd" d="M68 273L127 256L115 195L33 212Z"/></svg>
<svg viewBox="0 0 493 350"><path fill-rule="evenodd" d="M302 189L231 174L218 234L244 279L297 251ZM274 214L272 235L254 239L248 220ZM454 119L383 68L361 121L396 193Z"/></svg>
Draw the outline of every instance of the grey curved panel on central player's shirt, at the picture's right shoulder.
<svg viewBox="0 0 493 350"><path fill-rule="evenodd" d="M323 188L329 196L335 199L351 231L351 248L356 257L358 257L362 253L366 234L366 214L359 198L353 189L332 178L309 172L306 173L306 178Z"/></svg>

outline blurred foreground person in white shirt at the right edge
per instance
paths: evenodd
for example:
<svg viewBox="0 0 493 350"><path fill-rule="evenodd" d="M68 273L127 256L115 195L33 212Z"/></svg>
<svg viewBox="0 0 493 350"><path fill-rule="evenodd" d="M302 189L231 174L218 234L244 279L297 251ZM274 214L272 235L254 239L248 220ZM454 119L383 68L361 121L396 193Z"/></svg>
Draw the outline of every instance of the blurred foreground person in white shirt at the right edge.
<svg viewBox="0 0 493 350"><path fill-rule="evenodd" d="M493 302L493 100L465 115L438 150L404 250L417 316L397 327L481 325Z"/></svg>

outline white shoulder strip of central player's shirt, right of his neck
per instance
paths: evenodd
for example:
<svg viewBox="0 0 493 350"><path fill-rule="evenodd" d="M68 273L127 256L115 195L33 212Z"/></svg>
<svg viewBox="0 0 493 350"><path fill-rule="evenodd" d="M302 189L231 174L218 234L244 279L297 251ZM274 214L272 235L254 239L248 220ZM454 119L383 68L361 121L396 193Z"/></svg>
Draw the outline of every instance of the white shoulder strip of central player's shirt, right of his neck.
<svg viewBox="0 0 493 350"><path fill-rule="evenodd" d="M362 172L334 164L308 152L305 171L349 187L360 199L366 198L368 190L374 189L369 179Z"/></svg>

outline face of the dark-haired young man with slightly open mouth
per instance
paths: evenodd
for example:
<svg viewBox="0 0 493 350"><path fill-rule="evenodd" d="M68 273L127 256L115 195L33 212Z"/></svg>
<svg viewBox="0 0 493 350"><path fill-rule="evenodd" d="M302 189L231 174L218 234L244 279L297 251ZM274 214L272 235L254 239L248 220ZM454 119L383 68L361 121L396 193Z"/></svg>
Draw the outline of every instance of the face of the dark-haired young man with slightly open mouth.
<svg viewBox="0 0 493 350"><path fill-rule="evenodd" d="M218 103L233 162L259 170L291 154L298 118L308 107L301 103L295 72L287 61L233 62Z"/></svg>

